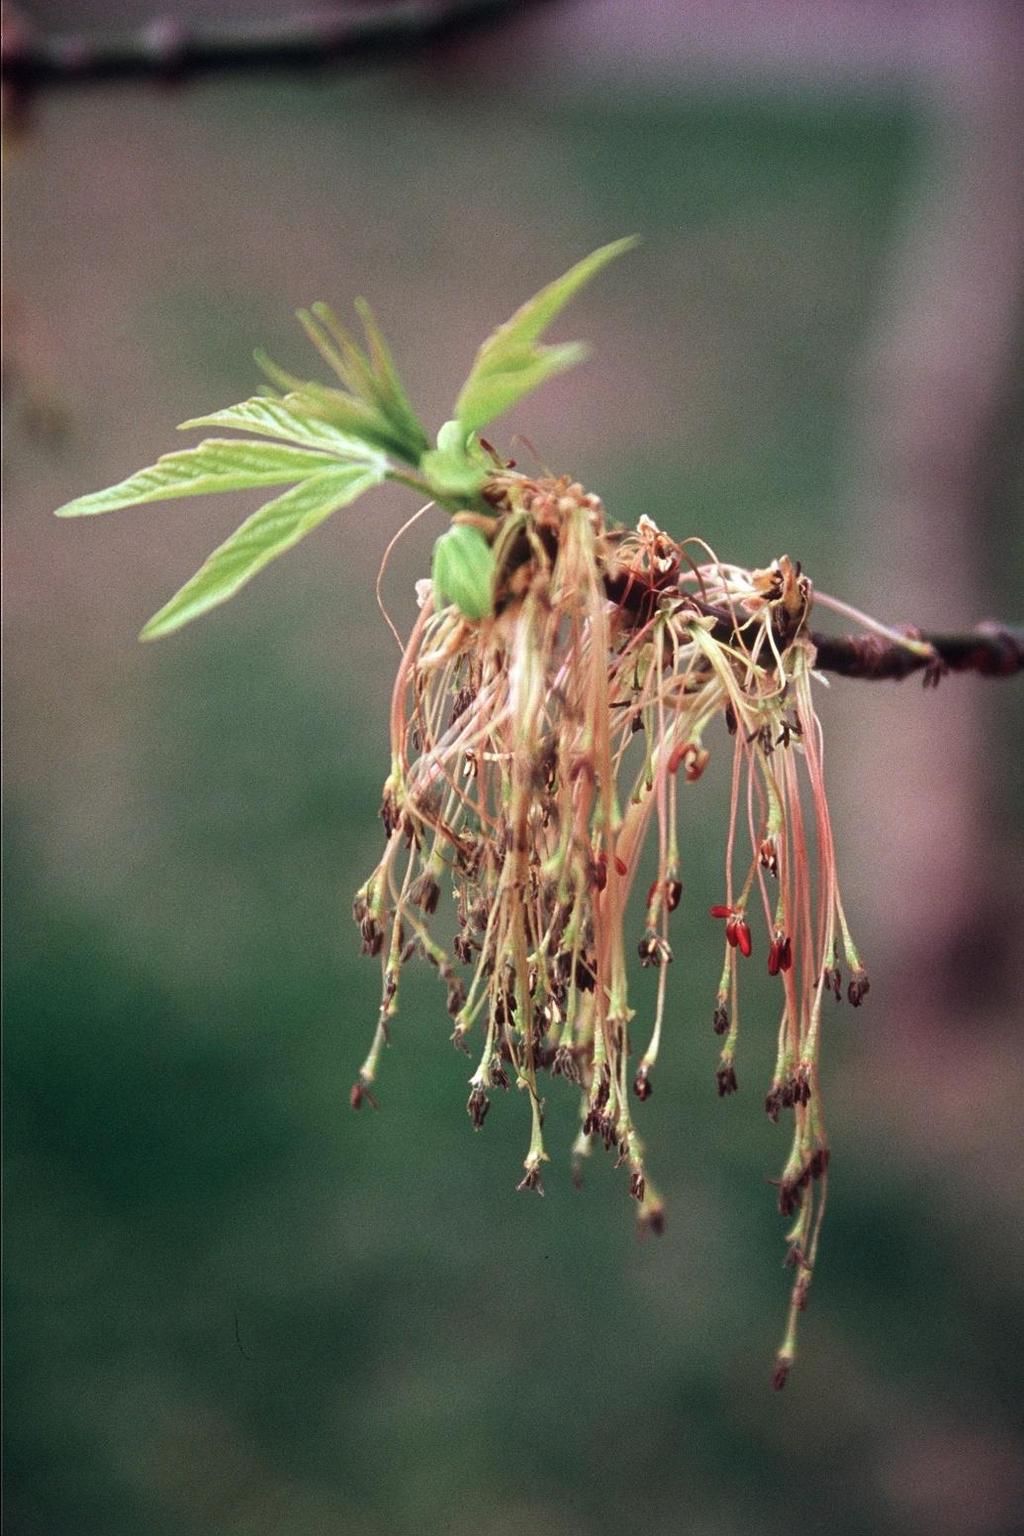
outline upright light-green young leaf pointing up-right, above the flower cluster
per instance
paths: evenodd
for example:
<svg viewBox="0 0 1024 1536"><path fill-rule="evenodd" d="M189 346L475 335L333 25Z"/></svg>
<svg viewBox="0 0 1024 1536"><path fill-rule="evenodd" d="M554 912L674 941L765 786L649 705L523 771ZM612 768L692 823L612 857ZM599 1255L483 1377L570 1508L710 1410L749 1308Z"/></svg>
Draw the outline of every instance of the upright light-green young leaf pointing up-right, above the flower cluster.
<svg viewBox="0 0 1024 1536"><path fill-rule="evenodd" d="M467 432L479 432L545 379L573 367L586 355L579 343L542 347L539 339L585 283L636 244L637 240L631 235L583 257L563 276L527 300L511 319L487 338L454 407Z"/></svg>

